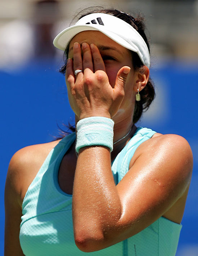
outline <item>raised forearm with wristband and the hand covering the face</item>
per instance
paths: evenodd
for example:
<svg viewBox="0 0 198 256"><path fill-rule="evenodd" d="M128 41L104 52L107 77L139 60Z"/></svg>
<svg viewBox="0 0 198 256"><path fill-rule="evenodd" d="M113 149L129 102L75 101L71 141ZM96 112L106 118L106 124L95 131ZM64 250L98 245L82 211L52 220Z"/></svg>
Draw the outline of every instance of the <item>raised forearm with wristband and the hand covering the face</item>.
<svg viewBox="0 0 198 256"><path fill-rule="evenodd" d="M73 61L68 59L66 69L69 102L80 122L76 125L76 151L80 151L72 200L73 228L78 244L85 240L103 240L109 234L107 230L112 230L121 217L121 203L111 172L114 136L111 118L124 99L130 72L130 67L116 60L120 69L116 66L117 75L111 85L99 49L95 45L90 48L86 43L82 46L74 44L73 54L69 54ZM83 72L75 76L74 70L78 69Z"/></svg>

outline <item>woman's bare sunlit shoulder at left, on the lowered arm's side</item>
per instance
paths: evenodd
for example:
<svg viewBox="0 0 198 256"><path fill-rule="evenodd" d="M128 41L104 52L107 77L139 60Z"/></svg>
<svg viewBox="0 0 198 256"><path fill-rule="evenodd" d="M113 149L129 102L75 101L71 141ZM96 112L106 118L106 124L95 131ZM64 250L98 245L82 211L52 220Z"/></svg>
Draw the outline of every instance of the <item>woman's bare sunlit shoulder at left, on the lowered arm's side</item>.
<svg viewBox="0 0 198 256"><path fill-rule="evenodd" d="M28 186L36 176L46 157L59 142L52 141L24 147L18 150L11 158L6 177L6 191L13 191L19 204L22 203Z"/></svg>

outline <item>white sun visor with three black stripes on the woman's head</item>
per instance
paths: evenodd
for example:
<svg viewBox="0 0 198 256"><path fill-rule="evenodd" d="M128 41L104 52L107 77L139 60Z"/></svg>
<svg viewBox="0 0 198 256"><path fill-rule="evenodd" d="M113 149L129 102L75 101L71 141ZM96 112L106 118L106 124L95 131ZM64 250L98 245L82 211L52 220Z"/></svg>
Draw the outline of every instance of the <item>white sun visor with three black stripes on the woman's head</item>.
<svg viewBox="0 0 198 256"><path fill-rule="evenodd" d="M142 63L150 67L148 47L138 31L120 18L105 13L92 13L79 19L75 25L64 29L54 39L53 44L65 50L72 38L87 30L97 30L123 47L136 52Z"/></svg>

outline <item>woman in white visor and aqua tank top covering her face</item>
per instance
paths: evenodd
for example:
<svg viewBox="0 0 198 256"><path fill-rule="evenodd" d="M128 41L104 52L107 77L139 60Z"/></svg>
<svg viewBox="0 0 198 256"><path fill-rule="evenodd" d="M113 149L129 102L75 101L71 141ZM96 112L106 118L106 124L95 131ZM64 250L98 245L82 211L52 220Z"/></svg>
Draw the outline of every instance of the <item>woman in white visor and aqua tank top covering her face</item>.
<svg viewBox="0 0 198 256"><path fill-rule="evenodd" d="M5 255L175 255L192 152L183 137L134 125L154 97L141 19L88 13L54 45L68 57L77 135L11 159Z"/></svg>

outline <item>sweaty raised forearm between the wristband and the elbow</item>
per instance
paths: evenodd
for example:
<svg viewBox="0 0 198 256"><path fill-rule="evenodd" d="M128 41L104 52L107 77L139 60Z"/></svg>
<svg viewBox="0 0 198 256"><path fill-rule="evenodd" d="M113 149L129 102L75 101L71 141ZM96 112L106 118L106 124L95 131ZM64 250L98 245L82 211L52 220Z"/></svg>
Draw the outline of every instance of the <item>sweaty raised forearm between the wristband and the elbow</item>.
<svg viewBox="0 0 198 256"><path fill-rule="evenodd" d="M121 203L111 171L107 147L80 149L73 186L75 237L102 239L121 217ZM86 234L87 233L87 234Z"/></svg>

